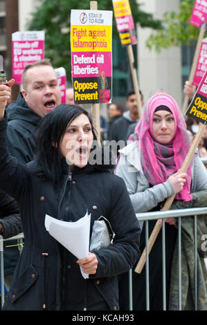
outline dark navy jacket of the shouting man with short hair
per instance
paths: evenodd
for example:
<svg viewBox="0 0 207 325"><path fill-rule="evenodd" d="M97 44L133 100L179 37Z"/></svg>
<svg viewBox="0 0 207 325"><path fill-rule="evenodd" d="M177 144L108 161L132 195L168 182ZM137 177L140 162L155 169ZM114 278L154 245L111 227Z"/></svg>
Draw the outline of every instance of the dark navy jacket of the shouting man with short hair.
<svg viewBox="0 0 207 325"><path fill-rule="evenodd" d="M34 158L34 133L41 117L30 109L21 93L16 103L10 104L6 111L8 150L21 163L29 163Z"/></svg>

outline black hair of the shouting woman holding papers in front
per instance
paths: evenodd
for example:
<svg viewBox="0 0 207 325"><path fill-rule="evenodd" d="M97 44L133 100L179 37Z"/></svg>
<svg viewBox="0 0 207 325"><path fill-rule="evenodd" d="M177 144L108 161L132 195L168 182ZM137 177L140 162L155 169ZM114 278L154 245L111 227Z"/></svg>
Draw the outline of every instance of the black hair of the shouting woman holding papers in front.
<svg viewBox="0 0 207 325"><path fill-rule="evenodd" d="M66 127L79 115L84 114L91 123L93 140L97 140L89 113L79 106L60 104L46 114L39 123L36 136L35 160L45 178L53 183L62 177L62 163L59 145Z"/></svg>

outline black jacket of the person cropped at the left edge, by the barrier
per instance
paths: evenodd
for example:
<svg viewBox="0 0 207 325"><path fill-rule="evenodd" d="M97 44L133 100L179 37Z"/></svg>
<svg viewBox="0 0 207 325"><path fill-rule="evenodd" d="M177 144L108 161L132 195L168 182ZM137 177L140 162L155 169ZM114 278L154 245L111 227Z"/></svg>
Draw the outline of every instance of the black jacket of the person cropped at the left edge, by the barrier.
<svg viewBox="0 0 207 325"><path fill-rule="evenodd" d="M19 208L14 198L1 191L0 189L0 224L3 227L3 238L7 239L19 232L22 232ZM3 264L4 275L11 275L19 259L19 251L17 247L8 247L14 245L14 241L6 241L3 243Z"/></svg>

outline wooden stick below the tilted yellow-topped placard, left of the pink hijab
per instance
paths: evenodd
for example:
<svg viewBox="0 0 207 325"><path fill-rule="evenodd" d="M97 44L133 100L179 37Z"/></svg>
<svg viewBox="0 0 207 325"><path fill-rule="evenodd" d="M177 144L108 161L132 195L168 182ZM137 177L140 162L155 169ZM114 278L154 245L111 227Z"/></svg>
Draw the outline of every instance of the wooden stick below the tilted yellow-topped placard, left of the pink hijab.
<svg viewBox="0 0 207 325"><path fill-rule="evenodd" d="M132 44L127 45L127 53L129 55L129 65L131 68L131 73L132 73L132 81L134 84L134 92L136 95L136 102L138 106L138 118L140 119L142 117L142 105L141 105L141 95L139 93L138 89L138 79L136 75L136 69L134 68L134 53L132 49Z"/></svg>

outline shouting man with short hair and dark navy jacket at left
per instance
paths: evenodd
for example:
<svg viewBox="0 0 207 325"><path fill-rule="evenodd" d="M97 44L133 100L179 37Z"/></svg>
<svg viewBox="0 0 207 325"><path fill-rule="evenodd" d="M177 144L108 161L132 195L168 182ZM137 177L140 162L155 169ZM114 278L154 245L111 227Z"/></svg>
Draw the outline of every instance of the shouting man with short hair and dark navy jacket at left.
<svg viewBox="0 0 207 325"><path fill-rule="evenodd" d="M33 160L34 133L41 118L61 103L61 91L48 59L28 64L22 73L23 90L8 111L8 150L21 163Z"/></svg>

